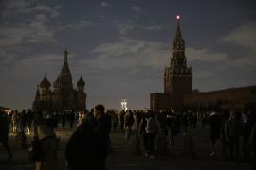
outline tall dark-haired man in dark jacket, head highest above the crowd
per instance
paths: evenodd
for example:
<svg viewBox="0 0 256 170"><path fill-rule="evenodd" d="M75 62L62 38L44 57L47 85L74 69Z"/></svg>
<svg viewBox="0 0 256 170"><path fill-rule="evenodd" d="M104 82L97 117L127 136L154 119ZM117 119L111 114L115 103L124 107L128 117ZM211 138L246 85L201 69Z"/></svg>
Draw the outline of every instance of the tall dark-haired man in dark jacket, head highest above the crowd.
<svg viewBox="0 0 256 170"><path fill-rule="evenodd" d="M105 169L105 160L109 150L109 133L111 129L111 120L104 113L105 108L103 105L97 105L94 108L94 118L95 118L95 144L96 147L96 165L97 170Z"/></svg>

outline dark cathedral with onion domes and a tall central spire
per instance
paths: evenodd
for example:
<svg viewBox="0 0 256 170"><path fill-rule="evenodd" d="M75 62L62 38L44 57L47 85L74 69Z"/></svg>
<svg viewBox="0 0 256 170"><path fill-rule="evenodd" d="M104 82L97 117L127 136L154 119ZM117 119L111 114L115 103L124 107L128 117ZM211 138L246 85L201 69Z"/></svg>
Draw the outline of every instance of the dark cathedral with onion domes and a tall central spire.
<svg viewBox="0 0 256 170"><path fill-rule="evenodd" d="M60 75L51 83L45 76L37 86L34 111L86 110L85 82L82 76L73 87L72 75L67 61L68 52L64 51L64 65Z"/></svg>

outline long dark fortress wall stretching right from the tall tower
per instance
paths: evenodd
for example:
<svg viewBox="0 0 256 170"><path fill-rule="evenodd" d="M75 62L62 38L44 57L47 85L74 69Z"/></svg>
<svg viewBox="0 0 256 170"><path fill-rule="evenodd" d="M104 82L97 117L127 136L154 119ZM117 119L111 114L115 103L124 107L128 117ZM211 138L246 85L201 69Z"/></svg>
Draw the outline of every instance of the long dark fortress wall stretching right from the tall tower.
<svg viewBox="0 0 256 170"><path fill-rule="evenodd" d="M256 86L230 88L184 95L183 105L190 108L244 110L256 107Z"/></svg>

